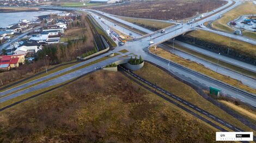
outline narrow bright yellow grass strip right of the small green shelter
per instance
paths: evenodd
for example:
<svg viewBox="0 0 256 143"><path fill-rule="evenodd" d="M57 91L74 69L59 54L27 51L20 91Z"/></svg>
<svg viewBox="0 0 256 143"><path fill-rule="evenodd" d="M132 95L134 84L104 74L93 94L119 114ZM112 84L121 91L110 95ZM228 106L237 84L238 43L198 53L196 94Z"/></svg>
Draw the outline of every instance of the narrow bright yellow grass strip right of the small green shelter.
<svg viewBox="0 0 256 143"><path fill-rule="evenodd" d="M245 108L242 108L240 106L236 106L234 105L234 103L228 102L228 101L224 101L224 100L219 100L221 103L223 103L224 105L227 105L228 107L234 109L235 111L239 112L240 114L246 115L249 118L252 118L253 120L256 121L256 112L252 111L252 110L248 110Z"/></svg>

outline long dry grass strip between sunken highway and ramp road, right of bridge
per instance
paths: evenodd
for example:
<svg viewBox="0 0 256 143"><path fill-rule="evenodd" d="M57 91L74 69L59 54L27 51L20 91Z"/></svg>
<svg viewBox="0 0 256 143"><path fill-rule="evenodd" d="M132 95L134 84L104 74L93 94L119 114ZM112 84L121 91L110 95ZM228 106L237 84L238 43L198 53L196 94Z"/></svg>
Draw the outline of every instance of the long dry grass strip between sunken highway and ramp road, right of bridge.
<svg viewBox="0 0 256 143"><path fill-rule="evenodd" d="M183 59L182 57L176 56L172 53L169 53L166 50L163 50L161 48L157 48L157 51L154 50L154 48L150 48L150 51L158 56L163 57L164 59L168 59L170 61L173 61L175 63L181 64L182 66L192 69L196 72L202 73L204 75L210 76L216 80L222 81L224 83L228 83L231 86L246 90L247 92L256 94L256 89L253 89L251 87L243 85L240 81L232 79L228 76L224 76L222 74L218 74L206 67L204 67L202 64L198 64L193 61L189 61L186 59Z"/></svg>

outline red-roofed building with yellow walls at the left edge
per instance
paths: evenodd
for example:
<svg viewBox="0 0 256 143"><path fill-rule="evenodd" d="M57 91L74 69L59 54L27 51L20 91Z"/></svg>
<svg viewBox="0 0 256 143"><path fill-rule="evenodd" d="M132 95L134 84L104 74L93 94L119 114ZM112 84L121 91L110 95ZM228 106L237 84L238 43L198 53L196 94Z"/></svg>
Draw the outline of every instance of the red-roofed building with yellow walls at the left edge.
<svg viewBox="0 0 256 143"><path fill-rule="evenodd" d="M20 66L20 64L24 63L24 55L0 56L0 70L9 70L10 68L17 68Z"/></svg>

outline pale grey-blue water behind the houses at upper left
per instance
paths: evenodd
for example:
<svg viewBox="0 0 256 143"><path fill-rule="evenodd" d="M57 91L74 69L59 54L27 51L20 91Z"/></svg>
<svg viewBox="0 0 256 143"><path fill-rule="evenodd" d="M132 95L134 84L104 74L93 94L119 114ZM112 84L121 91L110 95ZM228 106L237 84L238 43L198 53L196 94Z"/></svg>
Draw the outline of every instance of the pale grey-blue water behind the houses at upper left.
<svg viewBox="0 0 256 143"><path fill-rule="evenodd" d="M31 12L8 12L0 13L0 27L4 28L10 24L18 23L21 19L27 19L29 21L35 21L36 16L57 14L61 11L47 10L47 11L31 11Z"/></svg>

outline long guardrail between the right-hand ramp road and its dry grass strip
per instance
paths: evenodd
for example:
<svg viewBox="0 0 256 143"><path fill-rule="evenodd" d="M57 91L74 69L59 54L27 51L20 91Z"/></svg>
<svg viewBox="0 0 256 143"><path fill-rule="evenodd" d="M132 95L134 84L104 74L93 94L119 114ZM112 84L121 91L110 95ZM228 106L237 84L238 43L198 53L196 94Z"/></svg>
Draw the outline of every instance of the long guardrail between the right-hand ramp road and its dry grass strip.
<svg viewBox="0 0 256 143"><path fill-rule="evenodd" d="M213 82L215 82L215 83L218 83L218 84L220 84L220 85L222 85L222 86L225 86L225 87L228 87L228 88L230 88L230 89L233 89L233 90L235 90L236 92L240 92L240 93L246 94L247 96L250 96L251 98L256 99L256 95L254 95L254 94L252 94L252 93L246 92L245 90L236 88L236 87L231 86L231 85L229 85L229 84L227 84L227 83L224 83L224 82L222 82L222 81L219 81L219 80L216 80L216 79L212 79L212 78L209 77L209 76L206 76L206 75L204 75L204 74L195 72L195 71L193 71L193 70L191 70L191 69L185 68L185 67L181 66L181 65L178 64L178 63L174 63L174 62L172 62L172 61L169 61L169 60L167 60L167 59L164 59L164 58L162 58L162 57L159 57L159 56L157 56L157 55L155 55L155 54L153 54L153 53L150 52L150 50L149 50L150 47L151 47L151 46L149 46L149 47L147 48L148 54L150 54L150 55L156 57L157 59L160 59L160 60L165 61L165 62L167 62L167 63L173 64L173 65L175 65L175 66L177 66L177 67L179 67L179 68L185 69L185 70L187 70L187 71L189 71L189 72L191 72L191 73L194 73L194 74L197 74L197 75L199 75L199 76L202 76L202 77L204 77L205 79L208 79L208 80L213 81ZM256 107L256 106L254 106L254 107Z"/></svg>

